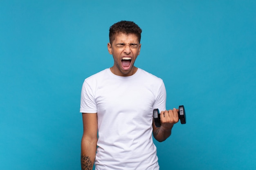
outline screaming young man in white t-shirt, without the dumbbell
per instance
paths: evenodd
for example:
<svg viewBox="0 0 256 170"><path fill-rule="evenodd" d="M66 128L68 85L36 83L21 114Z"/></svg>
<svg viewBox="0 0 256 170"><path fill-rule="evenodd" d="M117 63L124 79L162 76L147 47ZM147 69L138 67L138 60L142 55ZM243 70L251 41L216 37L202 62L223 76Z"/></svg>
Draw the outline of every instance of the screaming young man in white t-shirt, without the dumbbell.
<svg viewBox="0 0 256 170"><path fill-rule="evenodd" d="M92 170L159 170L157 141L171 135L177 109L166 110L162 79L134 66L141 29L130 21L110 27L108 52L114 65L85 79L81 92L83 137L81 168ZM161 111L155 127L153 109Z"/></svg>

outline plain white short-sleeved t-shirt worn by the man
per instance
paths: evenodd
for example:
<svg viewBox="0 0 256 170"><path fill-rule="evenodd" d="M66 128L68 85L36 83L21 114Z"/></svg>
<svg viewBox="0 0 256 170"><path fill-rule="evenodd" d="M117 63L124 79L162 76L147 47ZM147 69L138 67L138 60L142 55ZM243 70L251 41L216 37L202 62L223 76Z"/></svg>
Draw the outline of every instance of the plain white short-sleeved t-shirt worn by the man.
<svg viewBox="0 0 256 170"><path fill-rule="evenodd" d="M81 113L97 113L95 170L159 170L153 109L166 110L162 79L138 68L122 77L107 68L85 79Z"/></svg>

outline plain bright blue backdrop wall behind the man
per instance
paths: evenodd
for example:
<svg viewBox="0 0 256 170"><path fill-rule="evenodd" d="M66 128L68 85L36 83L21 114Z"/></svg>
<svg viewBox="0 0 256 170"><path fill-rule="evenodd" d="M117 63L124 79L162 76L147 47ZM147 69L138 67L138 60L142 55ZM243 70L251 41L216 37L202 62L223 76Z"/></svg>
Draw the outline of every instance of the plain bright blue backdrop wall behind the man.
<svg viewBox="0 0 256 170"><path fill-rule="evenodd" d="M80 169L83 80L112 66L108 29L141 29L136 66L187 124L155 141L161 170L256 169L256 1L1 0L0 169Z"/></svg>

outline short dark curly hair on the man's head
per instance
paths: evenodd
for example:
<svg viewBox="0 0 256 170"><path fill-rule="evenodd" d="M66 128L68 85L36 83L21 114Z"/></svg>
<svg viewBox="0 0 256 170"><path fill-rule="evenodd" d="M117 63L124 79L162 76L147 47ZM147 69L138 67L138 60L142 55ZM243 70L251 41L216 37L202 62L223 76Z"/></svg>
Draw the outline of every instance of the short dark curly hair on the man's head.
<svg viewBox="0 0 256 170"><path fill-rule="evenodd" d="M135 34L140 42L141 28L135 22L132 21L119 21L109 28L109 41L110 44L115 40L117 33Z"/></svg>

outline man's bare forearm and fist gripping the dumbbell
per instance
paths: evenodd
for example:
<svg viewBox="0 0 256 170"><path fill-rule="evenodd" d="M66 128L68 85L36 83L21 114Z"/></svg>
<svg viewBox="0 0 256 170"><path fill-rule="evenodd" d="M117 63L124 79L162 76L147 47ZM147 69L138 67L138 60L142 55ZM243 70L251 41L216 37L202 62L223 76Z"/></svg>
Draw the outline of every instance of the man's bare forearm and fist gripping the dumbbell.
<svg viewBox="0 0 256 170"><path fill-rule="evenodd" d="M173 125L179 121L178 110L165 110L161 111L161 126L157 128L153 121L153 136L159 142L165 141L170 135Z"/></svg>

